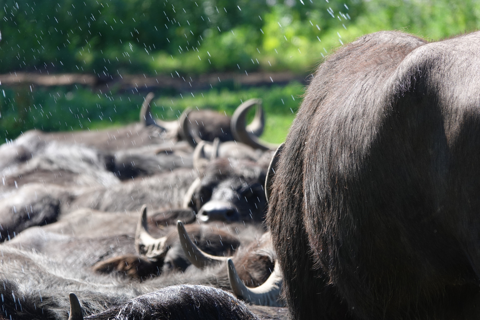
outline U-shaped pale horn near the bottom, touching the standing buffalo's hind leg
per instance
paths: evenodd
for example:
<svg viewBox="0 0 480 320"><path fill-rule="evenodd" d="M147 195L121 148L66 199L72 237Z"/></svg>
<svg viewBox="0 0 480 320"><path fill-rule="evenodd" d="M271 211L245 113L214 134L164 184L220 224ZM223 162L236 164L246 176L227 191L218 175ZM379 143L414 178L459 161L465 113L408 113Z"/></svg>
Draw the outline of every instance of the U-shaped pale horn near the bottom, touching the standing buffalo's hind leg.
<svg viewBox="0 0 480 320"><path fill-rule="evenodd" d="M273 272L263 284L256 288L249 288L243 284L238 276L233 261L228 259L228 281L230 282L233 293L236 296L241 296L246 302L260 306L284 306L279 299L280 288L282 286L282 275L278 268L278 262L275 262Z"/></svg>

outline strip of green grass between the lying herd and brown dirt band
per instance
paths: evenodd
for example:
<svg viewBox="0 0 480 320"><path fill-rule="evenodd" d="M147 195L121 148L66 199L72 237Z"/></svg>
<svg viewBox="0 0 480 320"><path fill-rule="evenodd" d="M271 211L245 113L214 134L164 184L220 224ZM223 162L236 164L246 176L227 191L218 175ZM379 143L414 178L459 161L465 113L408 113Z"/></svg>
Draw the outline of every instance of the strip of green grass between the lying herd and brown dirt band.
<svg viewBox="0 0 480 320"><path fill-rule="evenodd" d="M159 119L178 119L186 107L210 108L232 115L242 101L262 98L266 114L262 138L282 142L300 104L303 85L230 90L213 88L191 94L157 94L152 113ZM143 97L125 93L92 91L88 88L58 87L29 90L16 87L0 95L0 139L14 139L30 129L44 131L94 130L119 127L138 121ZM253 111L252 111L253 113ZM252 115L250 115L250 118Z"/></svg>

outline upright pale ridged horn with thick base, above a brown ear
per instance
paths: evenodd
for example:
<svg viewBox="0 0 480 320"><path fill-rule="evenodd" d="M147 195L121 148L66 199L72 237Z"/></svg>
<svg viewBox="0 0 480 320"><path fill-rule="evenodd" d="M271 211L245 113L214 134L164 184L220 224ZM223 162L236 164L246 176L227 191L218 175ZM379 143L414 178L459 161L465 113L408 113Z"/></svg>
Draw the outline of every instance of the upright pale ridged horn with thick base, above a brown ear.
<svg viewBox="0 0 480 320"><path fill-rule="evenodd" d="M148 233L147 206L143 205L142 214L135 232L135 249L138 254L150 259L160 259L167 254L167 236L154 238Z"/></svg>

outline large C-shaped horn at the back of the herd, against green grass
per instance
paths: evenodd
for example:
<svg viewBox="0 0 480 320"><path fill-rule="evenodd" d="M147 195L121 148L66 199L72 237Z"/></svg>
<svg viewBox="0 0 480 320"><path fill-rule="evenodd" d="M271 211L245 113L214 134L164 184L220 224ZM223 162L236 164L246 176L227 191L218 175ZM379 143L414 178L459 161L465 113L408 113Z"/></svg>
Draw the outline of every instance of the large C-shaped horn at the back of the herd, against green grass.
<svg viewBox="0 0 480 320"><path fill-rule="evenodd" d="M248 110L254 106L261 106L261 99L250 99L242 103L233 113L231 121L232 134L235 140L243 142L253 149L261 150L276 150L278 144L272 144L268 142L263 142L258 139L252 132L247 130L245 126L245 116L247 115ZM255 113L256 116L257 113ZM253 122L256 120L254 119ZM262 129L263 130L263 129Z"/></svg>

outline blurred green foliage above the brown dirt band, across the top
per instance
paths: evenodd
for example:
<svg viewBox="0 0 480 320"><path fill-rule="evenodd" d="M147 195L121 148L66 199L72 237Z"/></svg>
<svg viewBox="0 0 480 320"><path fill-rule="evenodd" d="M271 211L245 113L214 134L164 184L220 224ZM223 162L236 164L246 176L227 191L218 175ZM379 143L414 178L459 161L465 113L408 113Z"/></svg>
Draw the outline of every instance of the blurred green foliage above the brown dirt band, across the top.
<svg viewBox="0 0 480 320"><path fill-rule="evenodd" d="M479 17L474 0L5 0L0 72L305 73L365 33L437 39Z"/></svg>

